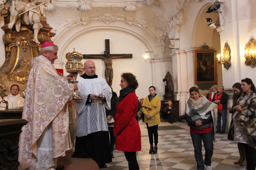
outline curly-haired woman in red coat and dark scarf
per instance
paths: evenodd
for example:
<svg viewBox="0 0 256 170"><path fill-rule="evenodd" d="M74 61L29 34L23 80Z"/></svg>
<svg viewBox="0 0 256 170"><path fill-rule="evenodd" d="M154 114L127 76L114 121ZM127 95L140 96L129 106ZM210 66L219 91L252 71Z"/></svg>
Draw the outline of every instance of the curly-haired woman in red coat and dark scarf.
<svg viewBox="0 0 256 170"><path fill-rule="evenodd" d="M121 77L121 90L114 119L115 148L124 151L129 170L139 170L136 151L141 150L141 133L135 118L139 105L135 89L139 84L132 73L123 73Z"/></svg>

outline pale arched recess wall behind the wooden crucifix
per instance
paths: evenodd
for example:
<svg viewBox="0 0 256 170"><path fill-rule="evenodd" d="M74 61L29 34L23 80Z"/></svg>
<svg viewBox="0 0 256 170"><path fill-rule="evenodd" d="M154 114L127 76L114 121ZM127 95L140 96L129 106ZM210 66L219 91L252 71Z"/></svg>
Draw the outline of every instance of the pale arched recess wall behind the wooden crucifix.
<svg viewBox="0 0 256 170"><path fill-rule="evenodd" d="M67 61L65 54L72 52L73 48L82 54L103 54L105 50L104 39L110 39L111 54L133 54L133 58L113 59L113 90L117 93L119 92L120 75L122 72L132 72L137 76L139 82L139 87L136 90L139 98L144 98L148 95L148 87L151 85L156 86L159 94L163 93L162 84L164 82L162 82L162 79L165 75L165 69L163 61L158 61L159 59L157 59L161 56L159 44L151 35L141 30L132 33L131 30L127 31L126 29L115 27L115 24L109 24L109 26L102 28L99 28L100 26L94 27L93 25L95 24L89 24L87 27L80 24L72 28L67 28L61 34L55 36L55 43L59 46L58 61L64 62L63 66L57 65L58 67L65 69L65 63ZM150 61L156 60L144 60L145 51L153 51L153 53L149 54L150 58L156 58L158 62L151 63ZM96 73L104 77L104 62L100 59L93 61L95 61L97 67ZM163 69L155 70L155 68Z"/></svg>

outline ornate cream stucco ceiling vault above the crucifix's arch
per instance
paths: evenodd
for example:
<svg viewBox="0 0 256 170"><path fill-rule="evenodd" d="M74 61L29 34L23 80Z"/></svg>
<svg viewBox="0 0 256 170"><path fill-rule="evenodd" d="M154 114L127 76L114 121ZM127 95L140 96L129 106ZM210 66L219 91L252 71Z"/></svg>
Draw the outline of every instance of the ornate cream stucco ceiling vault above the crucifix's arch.
<svg viewBox="0 0 256 170"><path fill-rule="evenodd" d="M45 7L47 22L58 34L73 24L117 20L135 24L153 35L165 51L164 39L179 38L185 0L53 0Z"/></svg>

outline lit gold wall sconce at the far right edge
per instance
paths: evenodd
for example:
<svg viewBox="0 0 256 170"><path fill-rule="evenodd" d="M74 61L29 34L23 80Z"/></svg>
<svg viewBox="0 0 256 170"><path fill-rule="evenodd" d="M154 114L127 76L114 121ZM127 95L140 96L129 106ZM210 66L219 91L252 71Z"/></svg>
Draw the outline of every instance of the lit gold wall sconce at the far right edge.
<svg viewBox="0 0 256 170"><path fill-rule="evenodd" d="M244 57L245 57L245 65L247 66L256 66L256 41L251 38L250 41L244 47Z"/></svg>

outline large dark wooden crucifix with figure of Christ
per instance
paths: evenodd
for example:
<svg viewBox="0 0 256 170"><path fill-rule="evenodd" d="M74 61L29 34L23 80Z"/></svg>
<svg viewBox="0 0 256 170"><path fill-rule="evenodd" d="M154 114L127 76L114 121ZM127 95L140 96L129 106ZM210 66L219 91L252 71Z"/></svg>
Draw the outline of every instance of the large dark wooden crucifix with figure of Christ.
<svg viewBox="0 0 256 170"><path fill-rule="evenodd" d="M110 54L109 39L105 39L104 54L83 54L84 59L104 59L105 62L105 78L108 85L111 87L113 82L112 59L115 58L132 58L132 54Z"/></svg>

